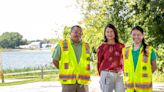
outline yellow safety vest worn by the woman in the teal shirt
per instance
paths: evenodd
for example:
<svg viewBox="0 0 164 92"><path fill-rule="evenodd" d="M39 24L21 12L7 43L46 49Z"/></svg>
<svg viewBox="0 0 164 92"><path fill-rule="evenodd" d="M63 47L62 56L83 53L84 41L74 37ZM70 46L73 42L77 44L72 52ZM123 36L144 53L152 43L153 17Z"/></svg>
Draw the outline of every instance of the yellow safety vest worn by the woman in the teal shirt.
<svg viewBox="0 0 164 92"><path fill-rule="evenodd" d="M123 49L124 59L124 82L126 92L152 92L152 69L151 51L152 47L147 46L145 55L140 48L136 70L134 70L132 46Z"/></svg>

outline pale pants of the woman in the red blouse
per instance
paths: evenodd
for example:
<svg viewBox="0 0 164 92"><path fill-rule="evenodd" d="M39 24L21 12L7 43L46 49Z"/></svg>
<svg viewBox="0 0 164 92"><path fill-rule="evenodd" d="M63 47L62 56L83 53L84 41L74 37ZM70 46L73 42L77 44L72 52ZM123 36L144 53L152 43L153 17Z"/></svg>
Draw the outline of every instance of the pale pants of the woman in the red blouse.
<svg viewBox="0 0 164 92"><path fill-rule="evenodd" d="M101 71L100 88L102 92L125 92L123 76L118 73Z"/></svg>

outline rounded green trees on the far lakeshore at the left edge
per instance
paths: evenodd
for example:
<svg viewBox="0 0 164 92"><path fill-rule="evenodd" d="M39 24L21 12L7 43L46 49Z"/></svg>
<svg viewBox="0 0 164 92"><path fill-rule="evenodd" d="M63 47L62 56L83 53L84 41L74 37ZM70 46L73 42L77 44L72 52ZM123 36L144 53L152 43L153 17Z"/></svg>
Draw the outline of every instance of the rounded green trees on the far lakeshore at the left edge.
<svg viewBox="0 0 164 92"><path fill-rule="evenodd" d="M5 32L0 36L0 47L16 48L20 44L25 44L27 41L22 40L22 37L18 32Z"/></svg>

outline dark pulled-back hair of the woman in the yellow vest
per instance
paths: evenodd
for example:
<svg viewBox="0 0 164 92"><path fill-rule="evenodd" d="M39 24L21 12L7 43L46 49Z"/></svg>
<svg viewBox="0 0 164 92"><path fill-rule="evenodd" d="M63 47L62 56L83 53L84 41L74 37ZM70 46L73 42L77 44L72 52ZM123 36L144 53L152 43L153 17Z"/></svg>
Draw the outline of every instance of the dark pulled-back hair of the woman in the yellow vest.
<svg viewBox="0 0 164 92"><path fill-rule="evenodd" d="M132 28L132 31L133 31L133 30L138 30L138 31L140 31L142 34L144 33L144 30L143 30L140 26L135 26L135 27L133 27L133 28ZM132 33L132 31L131 31L131 33ZM143 45L143 50L142 50L142 51L144 51L144 54L147 55L147 52L146 52L147 44L145 43L145 39L144 39L144 38L142 39L142 45Z"/></svg>

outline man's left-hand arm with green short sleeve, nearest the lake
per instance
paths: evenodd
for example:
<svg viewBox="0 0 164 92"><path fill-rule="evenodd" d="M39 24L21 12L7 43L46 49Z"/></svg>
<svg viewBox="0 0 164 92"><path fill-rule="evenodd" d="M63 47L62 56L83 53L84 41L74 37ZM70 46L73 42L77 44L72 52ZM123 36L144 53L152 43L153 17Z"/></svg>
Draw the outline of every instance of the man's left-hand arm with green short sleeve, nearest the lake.
<svg viewBox="0 0 164 92"><path fill-rule="evenodd" d="M61 57L61 48L60 48L60 45L58 44L56 47L55 47L55 50L52 54L52 63L53 65L59 69L59 61L60 61L60 57Z"/></svg>

